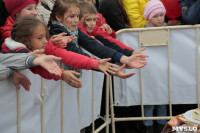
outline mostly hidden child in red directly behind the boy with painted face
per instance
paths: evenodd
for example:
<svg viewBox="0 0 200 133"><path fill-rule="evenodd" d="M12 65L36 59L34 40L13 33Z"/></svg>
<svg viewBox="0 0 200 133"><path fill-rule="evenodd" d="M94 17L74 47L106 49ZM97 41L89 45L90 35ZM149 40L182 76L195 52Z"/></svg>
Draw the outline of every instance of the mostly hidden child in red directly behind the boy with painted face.
<svg viewBox="0 0 200 133"><path fill-rule="evenodd" d="M95 0L78 0L78 1L88 2L93 6L96 4ZM105 30L111 37L116 38L115 31L107 24L106 19L103 17L101 13L97 13L96 25L99 26L102 30Z"/></svg>

